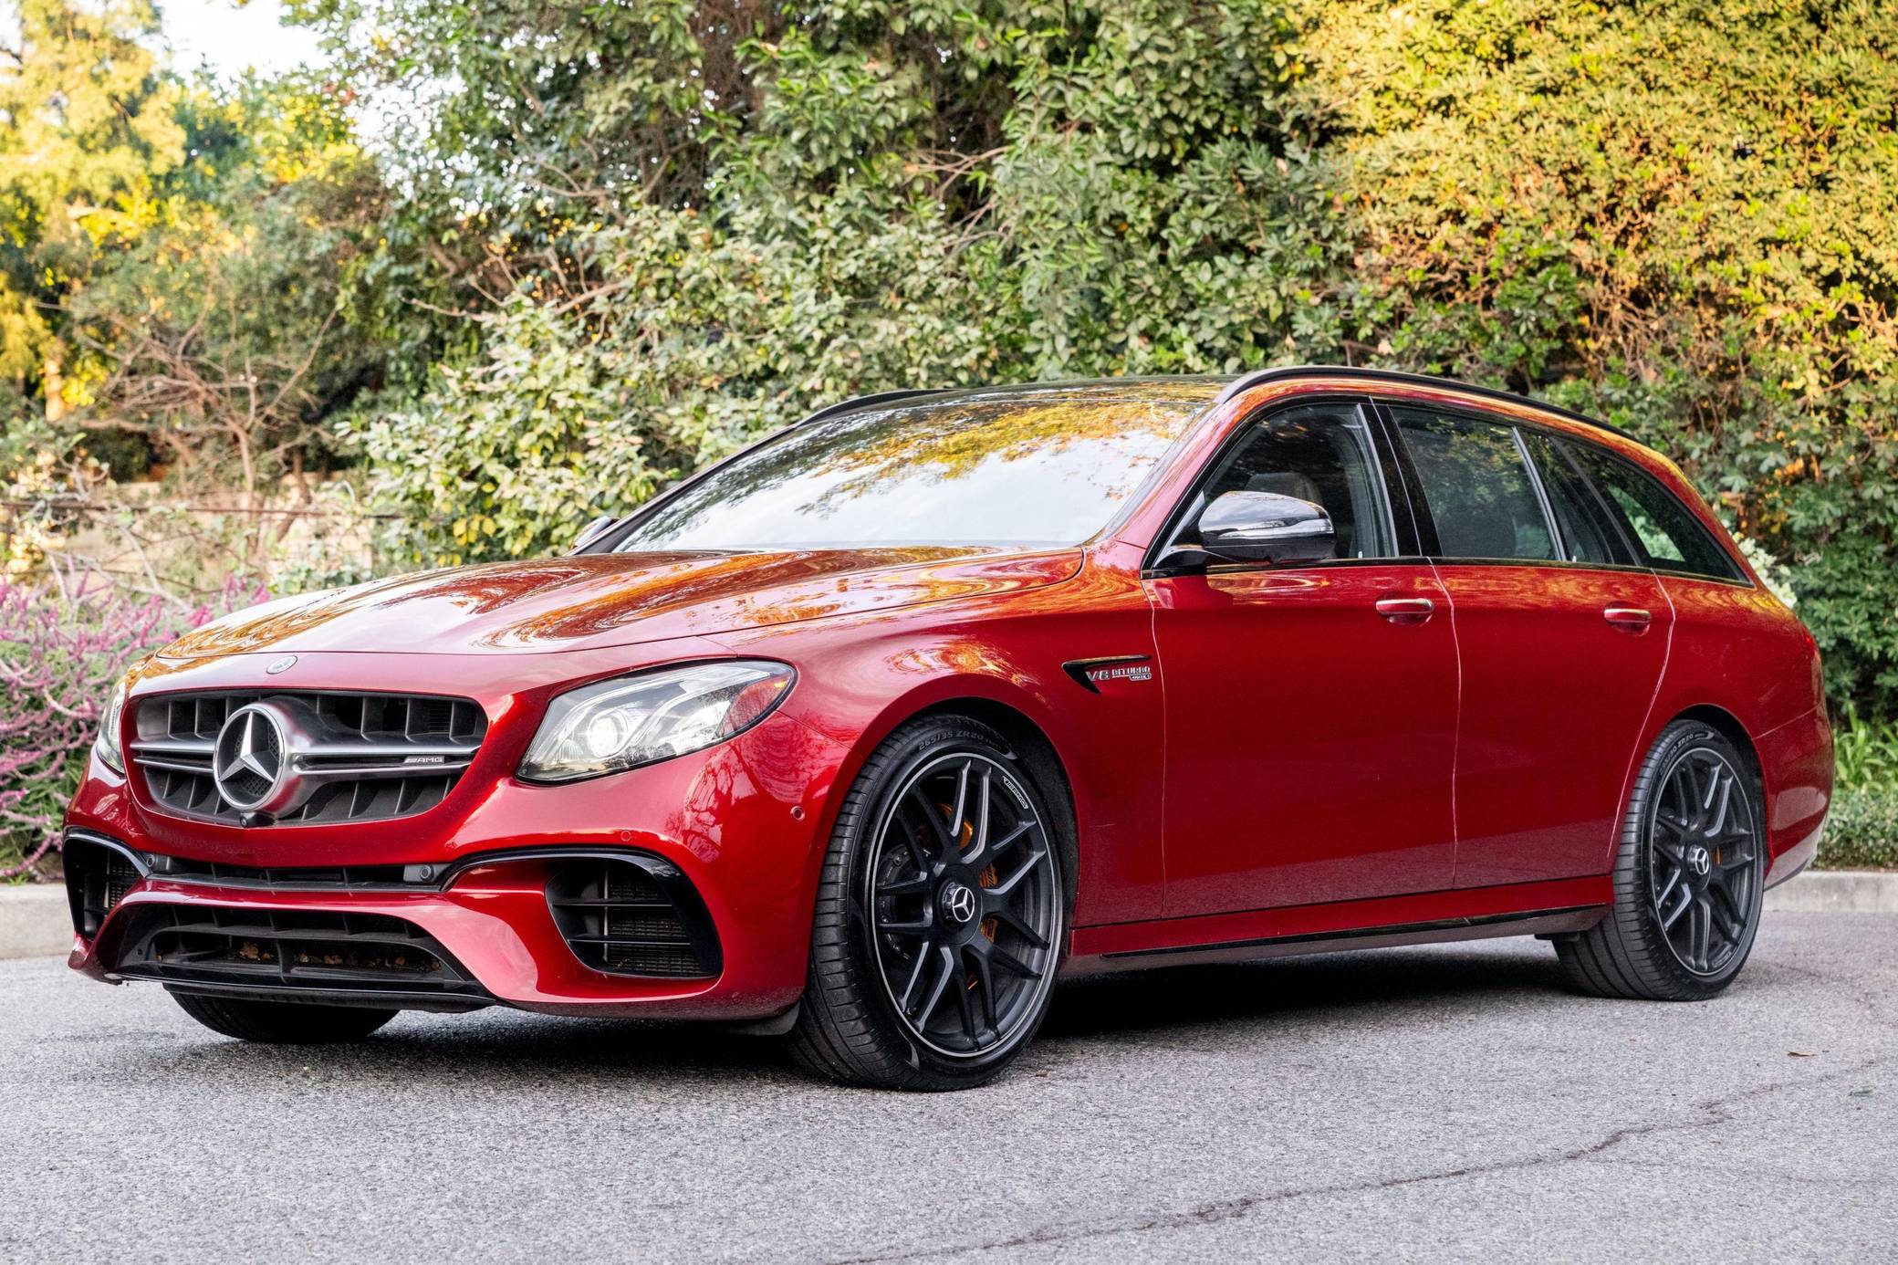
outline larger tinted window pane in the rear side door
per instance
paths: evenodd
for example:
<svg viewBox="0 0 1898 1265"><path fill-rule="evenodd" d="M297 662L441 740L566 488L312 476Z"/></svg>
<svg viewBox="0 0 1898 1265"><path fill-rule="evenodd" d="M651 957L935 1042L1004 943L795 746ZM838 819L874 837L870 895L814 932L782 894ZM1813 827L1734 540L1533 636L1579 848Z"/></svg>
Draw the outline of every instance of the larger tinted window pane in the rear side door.
<svg viewBox="0 0 1898 1265"><path fill-rule="evenodd" d="M1535 558L1553 562L1549 517L1517 431L1418 408L1393 408L1446 558Z"/></svg>

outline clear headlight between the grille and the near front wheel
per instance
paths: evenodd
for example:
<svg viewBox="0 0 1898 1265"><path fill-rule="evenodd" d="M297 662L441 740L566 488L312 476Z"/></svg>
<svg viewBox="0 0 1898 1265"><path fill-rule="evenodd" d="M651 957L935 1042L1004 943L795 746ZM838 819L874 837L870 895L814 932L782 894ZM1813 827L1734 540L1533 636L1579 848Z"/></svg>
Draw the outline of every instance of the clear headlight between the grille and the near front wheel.
<svg viewBox="0 0 1898 1265"><path fill-rule="evenodd" d="M793 680L790 665L731 659L569 689L549 705L520 777L569 783L723 743L763 720Z"/></svg>

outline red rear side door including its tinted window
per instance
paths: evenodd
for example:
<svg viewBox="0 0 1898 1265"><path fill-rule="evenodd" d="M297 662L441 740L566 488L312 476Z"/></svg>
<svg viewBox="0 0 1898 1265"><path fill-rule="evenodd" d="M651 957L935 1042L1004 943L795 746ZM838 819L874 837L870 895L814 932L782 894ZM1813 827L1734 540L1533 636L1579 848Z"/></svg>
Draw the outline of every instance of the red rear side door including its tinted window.
<svg viewBox="0 0 1898 1265"><path fill-rule="evenodd" d="M1602 874L1666 663L1666 595L1553 433L1387 416L1456 625L1456 885Z"/></svg>

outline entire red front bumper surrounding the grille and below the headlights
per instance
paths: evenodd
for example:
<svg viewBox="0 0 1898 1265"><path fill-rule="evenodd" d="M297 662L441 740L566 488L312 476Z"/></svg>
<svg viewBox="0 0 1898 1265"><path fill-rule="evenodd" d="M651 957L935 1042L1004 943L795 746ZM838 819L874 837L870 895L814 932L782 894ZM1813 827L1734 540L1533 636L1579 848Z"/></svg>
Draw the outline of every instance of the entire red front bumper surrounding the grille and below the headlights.
<svg viewBox="0 0 1898 1265"><path fill-rule="evenodd" d="M824 809L843 756L829 739L778 714L721 746L588 783L533 786L501 777L469 786L467 798L457 788L456 800L412 819L256 830L156 815L95 758L68 813L68 838L118 847L135 872L120 866L110 908L95 917L84 893L76 895L70 965L110 982L163 978L199 991L359 1005L778 1014L803 991L828 838ZM169 859L180 860L173 872L165 872ZM573 864L609 859L676 878L708 929L704 972L647 978L596 969L598 953L575 942L586 900L564 910L549 885ZM359 933L349 919L370 931ZM194 944L222 935L233 953L249 957L228 963L237 978L167 976L150 961L154 925L173 944L186 933ZM579 927L583 938L586 931ZM311 961L298 936L319 942ZM433 984L463 986L444 995L433 984L416 991L406 978L385 988L336 978L363 961L347 944L385 953L395 952L391 938L404 936L416 955L444 965ZM283 971L271 974L271 963Z"/></svg>

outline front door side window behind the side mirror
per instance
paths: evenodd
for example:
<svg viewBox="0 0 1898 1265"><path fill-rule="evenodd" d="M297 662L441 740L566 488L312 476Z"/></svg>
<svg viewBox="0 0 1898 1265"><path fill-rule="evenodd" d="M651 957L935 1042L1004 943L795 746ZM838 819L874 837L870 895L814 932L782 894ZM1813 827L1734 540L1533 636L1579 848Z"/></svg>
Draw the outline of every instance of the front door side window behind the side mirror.
<svg viewBox="0 0 1898 1265"><path fill-rule="evenodd" d="M1186 522L1226 492L1277 492L1323 505L1338 558L1397 553L1370 424L1353 405L1308 405L1258 422L1222 458Z"/></svg>

